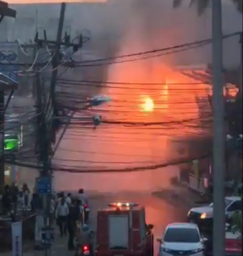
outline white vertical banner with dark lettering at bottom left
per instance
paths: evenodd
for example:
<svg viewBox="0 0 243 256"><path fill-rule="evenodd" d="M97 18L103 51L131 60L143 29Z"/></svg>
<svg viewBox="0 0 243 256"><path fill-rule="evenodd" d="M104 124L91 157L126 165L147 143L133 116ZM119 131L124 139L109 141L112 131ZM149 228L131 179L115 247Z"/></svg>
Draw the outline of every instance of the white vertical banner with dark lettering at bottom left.
<svg viewBox="0 0 243 256"><path fill-rule="evenodd" d="M22 256L22 222L12 223L12 256Z"/></svg>

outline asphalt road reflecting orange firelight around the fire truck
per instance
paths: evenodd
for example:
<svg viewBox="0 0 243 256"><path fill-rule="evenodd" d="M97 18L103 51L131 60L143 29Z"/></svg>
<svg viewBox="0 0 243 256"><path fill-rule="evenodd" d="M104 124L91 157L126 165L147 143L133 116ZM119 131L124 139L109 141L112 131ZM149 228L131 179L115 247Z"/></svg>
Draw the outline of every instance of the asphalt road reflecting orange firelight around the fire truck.
<svg viewBox="0 0 243 256"><path fill-rule="evenodd" d="M129 201L139 202L145 206L146 209L146 222L147 224L154 224L155 236L155 256L158 255L158 243L156 237L161 237L163 231L168 223L180 222L185 220L186 207L176 207L174 202L170 200L158 199L148 193L106 193L106 194L92 194L90 195L90 229L96 230L96 212L100 207L106 206L109 202L114 201ZM57 233L58 236L58 233ZM54 248L53 256L72 256L73 253L67 251L66 238L58 239L58 244ZM29 256L29 255L27 255ZM31 255L32 256L32 255ZM39 256L36 255L35 256Z"/></svg>

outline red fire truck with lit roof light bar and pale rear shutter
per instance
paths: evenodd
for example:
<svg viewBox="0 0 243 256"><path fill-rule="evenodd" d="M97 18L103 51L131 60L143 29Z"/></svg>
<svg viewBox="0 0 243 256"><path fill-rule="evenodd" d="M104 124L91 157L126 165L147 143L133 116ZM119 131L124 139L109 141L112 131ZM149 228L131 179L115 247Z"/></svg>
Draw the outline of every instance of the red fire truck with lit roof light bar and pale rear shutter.
<svg viewBox="0 0 243 256"><path fill-rule="evenodd" d="M153 256L152 229L140 204L110 203L97 212L95 256Z"/></svg>

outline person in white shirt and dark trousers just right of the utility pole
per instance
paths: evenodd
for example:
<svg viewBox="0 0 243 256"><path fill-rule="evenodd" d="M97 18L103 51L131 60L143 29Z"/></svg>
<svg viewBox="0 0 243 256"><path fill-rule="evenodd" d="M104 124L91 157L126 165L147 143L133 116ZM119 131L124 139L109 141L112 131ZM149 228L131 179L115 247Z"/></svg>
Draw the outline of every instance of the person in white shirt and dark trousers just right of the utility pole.
<svg viewBox="0 0 243 256"><path fill-rule="evenodd" d="M61 199L60 204L57 205L56 209L56 218L57 218L57 224L60 228L60 236L63 236L67 234L67 217L69 214L68 205L65 202L65 198Z"/></svg>

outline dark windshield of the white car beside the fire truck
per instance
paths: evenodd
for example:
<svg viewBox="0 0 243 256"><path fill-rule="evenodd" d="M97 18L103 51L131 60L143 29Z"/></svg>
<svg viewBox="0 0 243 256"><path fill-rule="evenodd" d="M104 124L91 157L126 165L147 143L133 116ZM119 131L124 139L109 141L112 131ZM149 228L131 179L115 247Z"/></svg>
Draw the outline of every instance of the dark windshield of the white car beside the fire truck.
<svg viewBox="0 0 243 256"><path fill-rule="evenodd" d="M169 228L163 240L169 243L198 243L200 237L195 228Z"/></svg>

